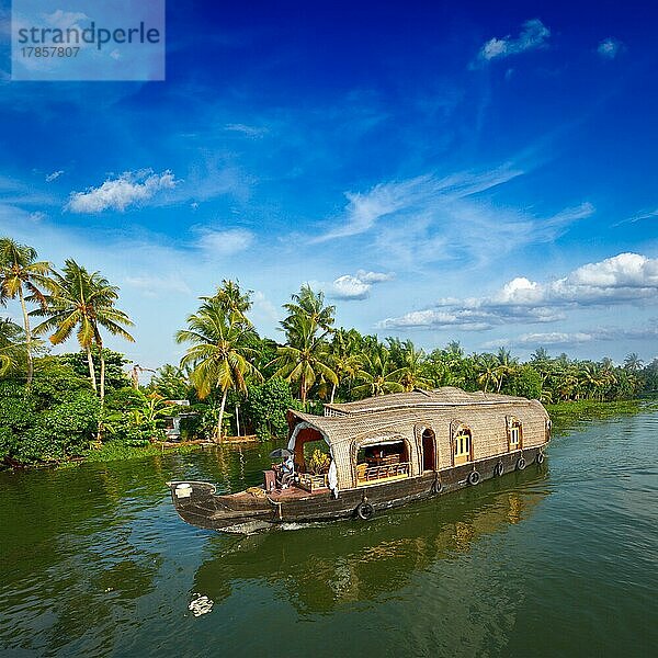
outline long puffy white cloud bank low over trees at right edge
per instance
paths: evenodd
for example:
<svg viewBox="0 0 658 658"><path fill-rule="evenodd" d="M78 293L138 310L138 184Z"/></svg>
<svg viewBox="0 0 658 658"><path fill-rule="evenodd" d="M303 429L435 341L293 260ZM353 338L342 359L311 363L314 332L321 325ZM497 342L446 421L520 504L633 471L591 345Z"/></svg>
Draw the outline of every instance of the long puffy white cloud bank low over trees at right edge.
<svg viewBox="0 0 658 658"><path fill-rule="evenodd" d="M620 253L546 283L519 276L489 297L440 299L429 309L387 318L381 326L491 329L518 322L555 322L564 319L569 308L636 302L658 302L658 259Z"/></svg>

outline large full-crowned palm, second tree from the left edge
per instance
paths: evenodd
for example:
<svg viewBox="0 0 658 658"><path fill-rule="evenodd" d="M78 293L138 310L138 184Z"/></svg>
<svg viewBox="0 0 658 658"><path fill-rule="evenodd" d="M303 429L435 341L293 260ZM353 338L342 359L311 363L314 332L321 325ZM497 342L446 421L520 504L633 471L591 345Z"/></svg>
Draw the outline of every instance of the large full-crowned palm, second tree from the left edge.
<svg viewBox="0 0 658 658"><path fill-rule="evenodd" d="M100 272L89 273L75 260L65 261L61 273L53 272L46 282L49 293L45 295L46 305L33 310L31 315L47 316L38 327L36 333L54 331L49 340L54 345L68 340L77 329L80 348L87 352L89 376L94 390L99 390L95 381L95 370L91 354L92 345L99 349L101 361L100 397L101 402L105 397L105 358L103 356L103 339L101 327L112 336L121 336L127 341L135 339L124 329L132 327L131 318L115 308L118 298L118 288Z"/></svg>

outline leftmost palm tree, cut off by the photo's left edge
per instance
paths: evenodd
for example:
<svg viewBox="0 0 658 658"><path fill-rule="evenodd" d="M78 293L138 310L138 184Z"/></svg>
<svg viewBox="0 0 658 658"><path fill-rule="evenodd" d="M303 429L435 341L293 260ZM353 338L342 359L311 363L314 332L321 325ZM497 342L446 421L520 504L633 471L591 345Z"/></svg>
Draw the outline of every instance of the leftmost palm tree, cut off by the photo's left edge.
<svg viewBox="0 0 658 658"><path fill-rule="evenodd" d="M27 386L32 384L34 361L32 358L32 331L25 302L37 302L42 306L46 300L39 290L50 273L50 263L37 261L37 252L33 247L19 245L11 238L0 238L0 299L19 297L23 311L23 329L25 330L25 350L27 354ZM25 288L25 290L24 290ZM29 296L25 298L25 291Z"/></svg>

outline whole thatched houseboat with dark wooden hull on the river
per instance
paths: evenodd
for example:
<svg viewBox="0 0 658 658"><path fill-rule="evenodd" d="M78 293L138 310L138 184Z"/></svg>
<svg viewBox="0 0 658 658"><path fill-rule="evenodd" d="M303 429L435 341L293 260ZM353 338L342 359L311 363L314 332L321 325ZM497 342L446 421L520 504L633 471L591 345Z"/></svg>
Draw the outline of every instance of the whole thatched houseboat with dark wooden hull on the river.
<svg viewBox="0 0 658 658"><path fill-rule="evenodd" d="M260 487L229 495L216 495L211 483L169 483L179 515L227 532L367 520L542 464L551 440L551 419L538 400L452 387L325 405L324 416L287 416L282 452L294 463L292 476L274 466Z"/></svg>

